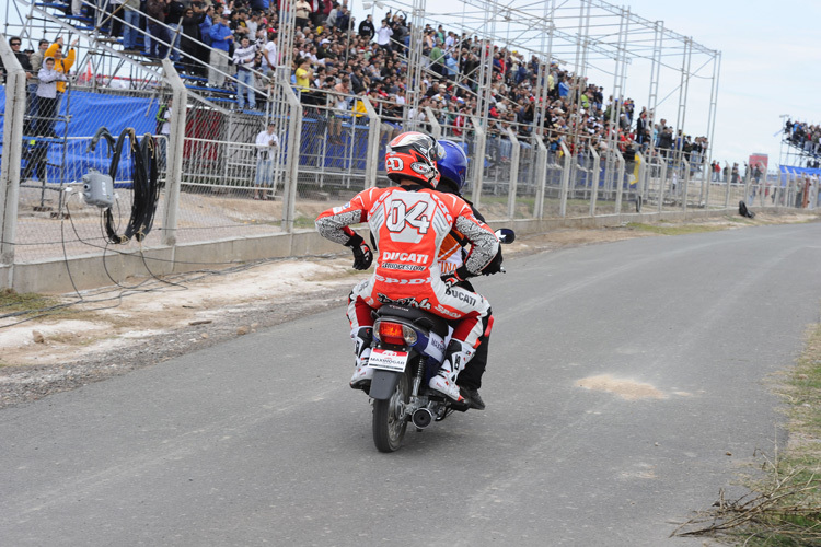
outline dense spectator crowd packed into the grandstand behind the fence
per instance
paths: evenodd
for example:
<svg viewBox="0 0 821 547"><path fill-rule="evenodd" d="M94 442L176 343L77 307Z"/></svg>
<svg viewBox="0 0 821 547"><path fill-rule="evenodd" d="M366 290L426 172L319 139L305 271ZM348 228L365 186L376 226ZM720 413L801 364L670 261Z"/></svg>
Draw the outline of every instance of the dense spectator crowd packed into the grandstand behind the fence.
<svg viewBox="0 0 821 547"><path fill-rule="evenodd" d="M115 0L108 5L103 20L113 36L123 38L125 53L170 56L194 86L201 86L205 93L234 95L240 109L264 109L275 68L290 66L291 84L307 115L328 118L332 142L340 141L343 124L365 120L365 95L382 119L396 128L406 119L430 123L429 107L446 135L460 138L469 130L470 118L481 115L477 80L486 48L492 69L487 105L492 139L509 129L529 138L539 128L553 151L562 142L579 154L588 148L601 152L614 143L631 161L636 151L646 152L654 143L658 154L672 158L680 151L692 165L703 163L708 147L705 137L684 135L663 118L656 121L646 107L637 109L631 98L606 96L602 86L577 78L556 62L540 67L536 56L528 58L442 25L427 24L423 30L426 70L419 82L419 107L414 109L405 88L410 24L401 12L389 11L378 23L369 14L357 24L347 0L297 0L293 47L282 51L278 5L269 0ZM94 10L93 3L79 0L66 4L67 13L100 20L101 13ZM14 40L21 42L12 38L10 43ZM67 55L62 48L61 39L53 44L42 40L31 57L20 54L26 57L24 67L37 97L32 103L46 98L41 104L48 116L56 112L48 101L51 86L59 97L73 62L73 48ZM55 58L55 70L61 74L54 81L41 75L46 57ZM540 83L547 89L544 119L537 119ZM30 112L36 116L41 110L30 107ZM817 149L821 130L799 127L794 135L799 130L810 136L807 142Z"/></svg>

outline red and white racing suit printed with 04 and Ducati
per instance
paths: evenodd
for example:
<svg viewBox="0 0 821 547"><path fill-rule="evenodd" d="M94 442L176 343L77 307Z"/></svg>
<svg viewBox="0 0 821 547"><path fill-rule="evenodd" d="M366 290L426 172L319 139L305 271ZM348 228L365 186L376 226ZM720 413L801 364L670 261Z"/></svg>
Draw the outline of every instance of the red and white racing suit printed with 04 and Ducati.
<svg viewBox="0 0 821 547"><path fill-rule="evenodd" d="M472 245L466 269L477 275L499 247L496 234L474 217L459 196L413 185L370 188L348 203L334 207L316 219L324 237L345 244L352 231L346 226L368 222L379 258L373 275L358 283L350 295L348 319L356 331L372 326L371 309L402 304L447 319L460 319L453 338L475 348L485 329L490 305L481 294L451 287L440 279L439 252L452 229Z"/></svg>

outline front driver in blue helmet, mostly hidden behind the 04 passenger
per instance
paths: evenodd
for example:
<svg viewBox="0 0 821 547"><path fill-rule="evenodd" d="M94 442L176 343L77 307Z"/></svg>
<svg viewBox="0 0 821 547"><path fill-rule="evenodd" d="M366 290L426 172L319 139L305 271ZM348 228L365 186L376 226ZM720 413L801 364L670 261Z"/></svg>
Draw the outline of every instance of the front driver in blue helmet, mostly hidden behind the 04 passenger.
<svg viewBox="0 0 821 547"><path fill-rule="evenodd" d="M471 206L473 216L482 222L485 222L485 218L479 213L473 203L462 196L462 188L465 184L465 175L467 173L467 156L464 153L462 147L458 143L449 140L440 140L439 144L444 149L444 158L437 162L437 168L441 174L439 184L437 185L437 191L446 194L455 194L465 200ZM444 238L442 246L439 251L439 268L442 274L449 274L454 271L456 268L464 264L464 255L466 252L464 247L470 242L459 233L456 230L452 230L450 234ZM482 274L489 276L497 274L501 270L501 246L496 253L494 259L488 264ZM470 281L463 280L459 282L459 287L467 289L471 292L476 292ZM485 409L485 401L479 396L479 388L482 387L482 375L485 373L487 366L487 346L488 337L490 333L485 333L479 337L479 346L476 348L476 352L471 359L471 362L462 370L459 374L456 383L462 387L463 392L467 395L467 400L471 408L477 410Z"/></svg>

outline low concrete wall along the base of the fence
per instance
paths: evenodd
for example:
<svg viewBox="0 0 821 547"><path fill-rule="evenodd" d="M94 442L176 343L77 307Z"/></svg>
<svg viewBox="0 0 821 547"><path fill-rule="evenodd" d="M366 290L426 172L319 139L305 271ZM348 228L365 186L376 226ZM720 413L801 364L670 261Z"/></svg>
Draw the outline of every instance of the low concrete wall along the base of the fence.
<svg viewBox="0 0 821 547"><path fill-rule="evenodd" d="M490 226L512 228L518 235L546 233L557 229L590 229L614 226L624 222L656 222L659 220L682 221L724 217L732 211L691 210L647 213L611 214L581 217L575 219L492 221ZM367 231L359 230L367 240ZM49 259L37 263L0 266L0 280L18 293L37 292L61 294L78 290L94 289L119 283L128 278L141 278L151 272L161 276L193 271L206 267L220 268L230 264L265 258L302 257L325 254L342 254L339 245L321 237L314 230L297 230L291 234L276 234L259 237L239 237L208 243L178 244L174 247L152 247L142 255L108 253L83 257ZM204 264L205 263L205 264ZM146 264L151 272L146 268ZM111 278L108 277L111 276ZM73 281L73 284L72 284Z"/></svg>

